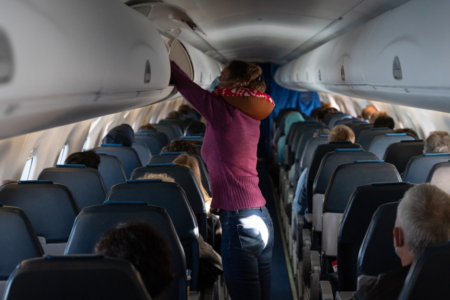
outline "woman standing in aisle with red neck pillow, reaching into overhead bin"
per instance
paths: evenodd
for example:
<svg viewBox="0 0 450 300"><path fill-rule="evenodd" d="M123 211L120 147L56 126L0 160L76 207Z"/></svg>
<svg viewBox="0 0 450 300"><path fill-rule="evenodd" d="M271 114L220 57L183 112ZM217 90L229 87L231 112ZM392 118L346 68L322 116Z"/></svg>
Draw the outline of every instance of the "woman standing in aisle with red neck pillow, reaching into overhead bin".
<svg viewBox="0 0 450 300"><path fill-rule="evenodd" d="M261 68L231 61L212 84L194 83L171 62L170 82L207 120L202 146L222 225L222 263L232 300L270 299L273 224L258 187L260 120L273 108ZM237 107L237 108L236 108Z"/></svg>

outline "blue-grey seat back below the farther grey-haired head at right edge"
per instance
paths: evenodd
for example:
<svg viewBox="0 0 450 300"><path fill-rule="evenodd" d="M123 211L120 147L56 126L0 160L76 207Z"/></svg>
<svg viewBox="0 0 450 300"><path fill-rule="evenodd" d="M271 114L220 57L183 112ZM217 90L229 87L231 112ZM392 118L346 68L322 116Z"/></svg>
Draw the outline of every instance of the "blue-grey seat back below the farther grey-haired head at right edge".
<svg viewBox="0 0 450 300"><path fill-rule="evenodd" d="M426 153L414 156L406 165L403 181L412 183L424 183L433 166L450 159L450 153Z"/></svg>

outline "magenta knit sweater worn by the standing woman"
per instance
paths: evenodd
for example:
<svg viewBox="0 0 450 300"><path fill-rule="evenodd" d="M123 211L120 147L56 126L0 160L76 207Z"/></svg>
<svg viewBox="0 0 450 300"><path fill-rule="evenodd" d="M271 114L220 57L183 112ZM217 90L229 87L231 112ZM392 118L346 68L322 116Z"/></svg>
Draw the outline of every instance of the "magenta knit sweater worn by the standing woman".
<svg viewBox="0 0 450 300"><path fill-rule="evenodd" d="M211 207L236 210L264 206L256 172L260 121L204 90L174 62L170 83L207 120L202 157L211 180Z"/></svg>

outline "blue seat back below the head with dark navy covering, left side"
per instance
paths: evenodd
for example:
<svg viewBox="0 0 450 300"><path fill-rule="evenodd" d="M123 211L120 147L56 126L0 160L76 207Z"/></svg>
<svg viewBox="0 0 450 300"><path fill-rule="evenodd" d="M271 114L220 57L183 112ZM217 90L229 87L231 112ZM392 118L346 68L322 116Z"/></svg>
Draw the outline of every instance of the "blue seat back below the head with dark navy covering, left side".
<svg viewBox="0 0 450 300"><path fill-rule="evenodd" d="M97 153L117 156L123 165L127 178L130 178L134 169L142 167L139 155L132 147L125 147L122 144L101 144L101 147L95 147L93 150Z"/></svg>

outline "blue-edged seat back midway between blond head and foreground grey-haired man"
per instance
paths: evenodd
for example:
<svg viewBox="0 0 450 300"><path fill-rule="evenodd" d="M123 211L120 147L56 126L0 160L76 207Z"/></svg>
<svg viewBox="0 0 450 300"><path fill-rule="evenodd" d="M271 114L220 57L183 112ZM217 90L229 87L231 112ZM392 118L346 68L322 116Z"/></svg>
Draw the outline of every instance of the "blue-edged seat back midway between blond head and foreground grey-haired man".
<svg viewBox="0 0 450 300"><path fill-rule="evenodd" d="M339 165L331 175L325 192L323 211L343 213L353 191L374 182L400 182L394 165L383 161L362 161Z"/></svg>

